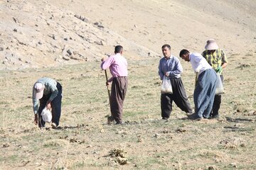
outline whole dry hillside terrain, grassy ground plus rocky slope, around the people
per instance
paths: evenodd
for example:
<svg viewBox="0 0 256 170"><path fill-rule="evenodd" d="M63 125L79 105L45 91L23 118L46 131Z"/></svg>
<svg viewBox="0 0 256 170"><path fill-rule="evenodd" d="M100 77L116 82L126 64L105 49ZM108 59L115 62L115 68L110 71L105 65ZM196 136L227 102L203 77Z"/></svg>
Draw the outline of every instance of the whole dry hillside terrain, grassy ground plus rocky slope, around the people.
<svg viewBox="0 0 256 170"><path fill-rule="evenodd" d="M0 1L0 169L256 169L255 0ZM219 120L193 121L174 104L161 120L161 45L225 50ZM110 106L100 59L124 46L124 125ZM181 61L193 106L195 74ZM110 72L108 72L110 76ZM63 85L60 128L33 124L32 87Z"/></svg>

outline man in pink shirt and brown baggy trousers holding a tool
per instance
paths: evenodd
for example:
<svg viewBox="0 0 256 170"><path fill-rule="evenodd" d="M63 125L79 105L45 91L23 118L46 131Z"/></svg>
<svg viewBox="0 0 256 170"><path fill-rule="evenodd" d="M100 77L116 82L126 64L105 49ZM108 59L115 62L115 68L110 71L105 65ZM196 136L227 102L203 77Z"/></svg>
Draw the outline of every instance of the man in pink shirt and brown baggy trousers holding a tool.
<svg viewBox="0 0 256 170"><path fill-rule="evenodd" d="M110 68L112 77L107 80L106 85L111 86L110 94L110 111L111 116L107 118L108 123L116 121L116 124L123 124L122 122L122 108L124 103L125 94L127 92L128 86L128 70L127 70L127 60L122 56L123 47L117 45L114 47L114 54L108 58L102 58L102 63L100 67L102 69Z"/></svg>

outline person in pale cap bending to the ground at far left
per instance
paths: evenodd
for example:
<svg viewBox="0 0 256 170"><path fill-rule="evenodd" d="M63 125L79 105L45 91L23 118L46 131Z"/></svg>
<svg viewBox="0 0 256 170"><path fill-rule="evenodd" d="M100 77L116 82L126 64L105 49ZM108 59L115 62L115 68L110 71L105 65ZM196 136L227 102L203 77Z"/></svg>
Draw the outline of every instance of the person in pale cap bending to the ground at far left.
<svg viewBox="0 0 256 170"><path fill-rule="evenodd" d="M61 113L62 86L48 77L38 79L33 85L33 112L35 113L34 123L43 128L46 124L41 113L43 108L52 109L52 128L57 128Z"/></svg>

